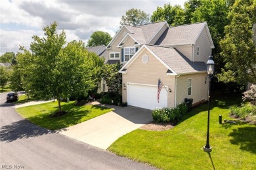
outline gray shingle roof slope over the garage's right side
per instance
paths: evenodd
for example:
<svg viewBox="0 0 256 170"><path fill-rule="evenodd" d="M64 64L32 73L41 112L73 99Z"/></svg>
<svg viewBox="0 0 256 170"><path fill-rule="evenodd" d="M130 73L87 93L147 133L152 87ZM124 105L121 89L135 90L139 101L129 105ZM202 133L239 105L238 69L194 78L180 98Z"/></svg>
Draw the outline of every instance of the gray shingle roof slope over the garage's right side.
<svg viewBox="0 0 256 170"><path fill-rule="evenodd" d="M152 45L147 45L147 47L177 74L206 71L206 64L204 62L192 62L176 48Z"/></svg>

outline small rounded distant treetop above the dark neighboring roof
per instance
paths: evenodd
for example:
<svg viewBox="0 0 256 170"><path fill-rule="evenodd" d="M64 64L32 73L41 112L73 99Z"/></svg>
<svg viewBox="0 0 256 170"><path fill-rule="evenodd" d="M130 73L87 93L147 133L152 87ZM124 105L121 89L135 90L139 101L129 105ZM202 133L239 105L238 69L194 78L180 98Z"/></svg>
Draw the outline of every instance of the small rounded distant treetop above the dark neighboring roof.
<svg viewBox="0 0 256 170"><path fill-rule="evenodd" d="M87 47L92 46L99 46L99 45L105 45L107 46L108 43L112 40L112 37L109 33L103 32L103 31L95 31L91 35Z"/></svg>

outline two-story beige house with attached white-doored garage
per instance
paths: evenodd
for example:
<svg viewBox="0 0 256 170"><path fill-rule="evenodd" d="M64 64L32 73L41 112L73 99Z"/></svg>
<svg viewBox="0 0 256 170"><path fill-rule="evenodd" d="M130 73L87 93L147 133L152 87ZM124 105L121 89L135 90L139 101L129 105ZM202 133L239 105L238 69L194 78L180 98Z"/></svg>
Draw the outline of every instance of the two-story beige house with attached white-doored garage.
<svg viewBox="0 0 256 170"><path fill-rule="evenodd" d="M123 64L122 96L128 105L176 107L185 98L207 100L206 62L214 48L206 22L123 25L106 47L108 61ZM158 102L158 79L164 87Z"/></svg>

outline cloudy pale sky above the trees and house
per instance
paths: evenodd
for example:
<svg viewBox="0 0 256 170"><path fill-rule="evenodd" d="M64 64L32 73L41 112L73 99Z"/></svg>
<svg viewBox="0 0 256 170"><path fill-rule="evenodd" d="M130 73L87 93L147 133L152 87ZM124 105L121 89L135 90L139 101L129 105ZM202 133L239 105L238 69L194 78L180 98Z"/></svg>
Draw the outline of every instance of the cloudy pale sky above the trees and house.
<svg viewBox="0 0 256 170"><path fill-rule="evenodd" d="M113 1L113 0L1 0L0 54L19 52L19 45L30 48L32 36L43 36L42 28L54 21L66 32L67 41L87 42L94 31L115 35L121 16L129 9L152 14L165 3L181 5L181 1Z"/></svg>

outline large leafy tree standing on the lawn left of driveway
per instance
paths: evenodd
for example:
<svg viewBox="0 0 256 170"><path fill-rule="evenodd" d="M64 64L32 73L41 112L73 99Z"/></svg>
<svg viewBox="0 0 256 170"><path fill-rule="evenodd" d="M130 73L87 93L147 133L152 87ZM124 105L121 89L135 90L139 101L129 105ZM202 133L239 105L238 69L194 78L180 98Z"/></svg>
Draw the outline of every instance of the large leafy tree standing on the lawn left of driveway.
<svg viewBox="0 0 256 170"><path fill-rule="evenodd" d="M58 99L58 109L62 112L60 99L71 95L86 95L95 88L92 75L95 65L102 63L95 54L83 48L83 42L66 44L64 31L56 32L57 23L43 28L45 37L33 36L30 50L24 50L17 57L22 76L35 98ZM29 62L28 62L29 61ZM98 63L97 63L98 62ZM98 68L98 67L96 67Z"/></svg>

